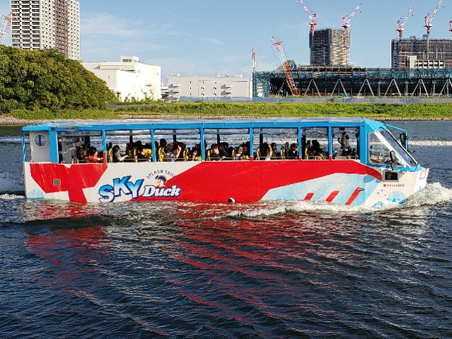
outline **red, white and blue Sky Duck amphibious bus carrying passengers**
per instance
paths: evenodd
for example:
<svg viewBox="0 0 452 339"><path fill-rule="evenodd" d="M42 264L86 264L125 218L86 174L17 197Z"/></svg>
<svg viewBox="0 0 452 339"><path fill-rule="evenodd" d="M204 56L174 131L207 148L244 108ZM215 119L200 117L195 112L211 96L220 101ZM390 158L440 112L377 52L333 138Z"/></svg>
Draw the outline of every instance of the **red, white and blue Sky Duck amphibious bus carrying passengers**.
<svg viewBox="0 0 452 339"><path fill-rule="evenodd" d="M365 118L23 127L25 193L70 202L307 200L381 207L427 185L407 132Z"/></svg>

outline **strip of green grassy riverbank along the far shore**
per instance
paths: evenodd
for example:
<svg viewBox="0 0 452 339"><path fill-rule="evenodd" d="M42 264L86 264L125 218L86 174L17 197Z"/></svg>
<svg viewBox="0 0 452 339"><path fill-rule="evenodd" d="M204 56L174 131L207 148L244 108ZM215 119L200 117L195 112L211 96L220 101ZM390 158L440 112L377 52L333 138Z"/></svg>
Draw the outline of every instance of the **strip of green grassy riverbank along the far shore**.
<svg viewBox="0 0 452 339"><path fill-rule="evenodd" d="M12 120L103 120L146 117L371 117L375 119L452 119L451 103L154 103L115 110L14 110ZM11 124L9 124L11 125Z"/></svg>

